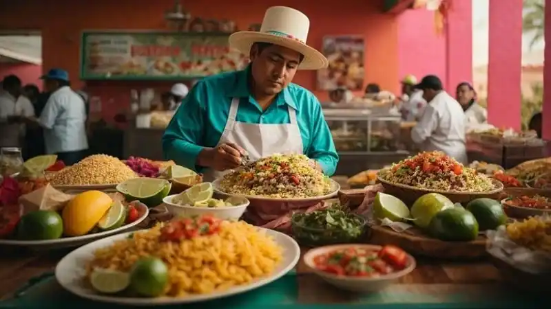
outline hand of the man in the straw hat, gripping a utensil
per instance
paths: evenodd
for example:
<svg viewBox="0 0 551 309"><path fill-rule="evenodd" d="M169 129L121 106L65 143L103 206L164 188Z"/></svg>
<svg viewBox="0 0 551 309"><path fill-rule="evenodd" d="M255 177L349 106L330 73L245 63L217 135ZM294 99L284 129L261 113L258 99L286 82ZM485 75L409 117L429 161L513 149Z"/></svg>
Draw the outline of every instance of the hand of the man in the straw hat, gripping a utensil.
<svg viewBox="0 0 551 309"><path fill-rule="evenodd" d="M241 165L241 158L246 154L240 146L224 143L216 148L205 149L198 158L198 164L218 171L231 170Z"/></svg>

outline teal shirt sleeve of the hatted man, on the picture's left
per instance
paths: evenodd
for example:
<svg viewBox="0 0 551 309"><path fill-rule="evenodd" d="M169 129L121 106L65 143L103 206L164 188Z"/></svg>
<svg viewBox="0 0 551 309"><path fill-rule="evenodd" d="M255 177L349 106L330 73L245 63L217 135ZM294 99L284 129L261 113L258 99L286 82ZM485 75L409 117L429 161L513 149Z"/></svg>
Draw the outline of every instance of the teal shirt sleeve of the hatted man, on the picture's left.
<svg viewBox="0 0 551 309"><path fill-rule="evenodd" d="M206 93L205 84L198 82L178 107L163 135L165 159L196 172L202 170L196 161L203 149L199 145L204 133Z"/></svg>

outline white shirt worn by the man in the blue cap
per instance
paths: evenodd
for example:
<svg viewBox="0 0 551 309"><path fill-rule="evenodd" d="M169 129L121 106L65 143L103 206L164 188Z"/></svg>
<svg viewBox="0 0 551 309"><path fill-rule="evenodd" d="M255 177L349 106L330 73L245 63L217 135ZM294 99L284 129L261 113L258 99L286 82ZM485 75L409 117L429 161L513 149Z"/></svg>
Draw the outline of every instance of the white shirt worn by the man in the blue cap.
<svg viewBox="0 0 551 309"><path fill-rule="evenodd" d="M44 127L46 153L88 148L85 104L70 87L61 87L50 95L39 121Z"/></svg>

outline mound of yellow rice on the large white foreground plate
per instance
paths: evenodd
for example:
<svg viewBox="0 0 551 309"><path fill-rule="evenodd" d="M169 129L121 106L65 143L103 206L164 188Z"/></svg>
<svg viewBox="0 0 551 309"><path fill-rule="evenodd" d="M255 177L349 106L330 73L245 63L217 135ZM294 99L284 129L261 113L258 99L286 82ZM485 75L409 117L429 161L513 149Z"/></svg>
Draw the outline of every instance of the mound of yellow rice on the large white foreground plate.
<svg viewBox="0 0 551 309"><path fill-rule="evenodd" d="M223 221L214 235L180 242L160 241L162 227L163 223L98 249L86 265L87 279L94 268L129 272L137 260L154 256L169 268L163 295L183 297L247 284L269 275L282 261L282 247L243 221Z"/></svg>

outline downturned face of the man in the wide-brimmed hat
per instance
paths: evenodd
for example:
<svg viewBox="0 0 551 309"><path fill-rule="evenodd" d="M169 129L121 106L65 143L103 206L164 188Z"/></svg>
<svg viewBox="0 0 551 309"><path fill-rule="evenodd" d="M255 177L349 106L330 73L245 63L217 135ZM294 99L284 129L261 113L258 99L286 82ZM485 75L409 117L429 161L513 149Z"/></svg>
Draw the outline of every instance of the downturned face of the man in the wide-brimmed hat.
<svg viewBox="0 0 551 309"><path fill-rule="evenodd" d="M258 52L251 49L251 73L255 85L266 95L280 93L293 80L301 55L287 47L271 45Z"/></svg>

